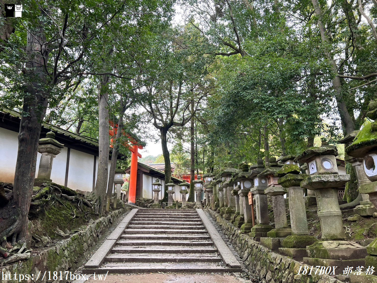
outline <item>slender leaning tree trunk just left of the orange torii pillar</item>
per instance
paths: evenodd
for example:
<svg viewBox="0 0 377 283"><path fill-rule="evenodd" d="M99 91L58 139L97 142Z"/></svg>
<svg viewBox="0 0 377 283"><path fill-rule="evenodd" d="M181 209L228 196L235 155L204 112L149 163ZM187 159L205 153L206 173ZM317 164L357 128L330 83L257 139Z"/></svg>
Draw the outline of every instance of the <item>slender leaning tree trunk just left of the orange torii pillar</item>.
<svg viewBox="0 0 377 283"><path fill-rule="evenodd" d="M118 152L120 146L120 135L123 129L123 116L124 116L125 108L123 107L123 102L121 100L120 103L120 111L119 111L119 121L118 121L118 129L115 135L115 143L113 145L113 152L111 154L111 163L110 163L110 171L109 171L109 183L107 185L107 193L106 193L106 203L110 200L111 194L114 188L114 175L115 175L115 168L116 168L116 160L118 160ZM106 206L106 213L108 213L108 207Z"/></svg>

